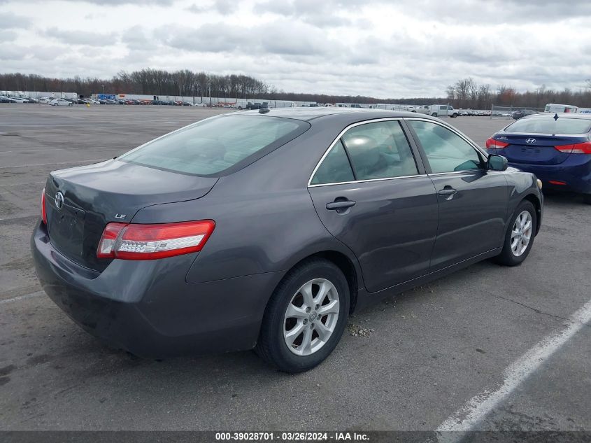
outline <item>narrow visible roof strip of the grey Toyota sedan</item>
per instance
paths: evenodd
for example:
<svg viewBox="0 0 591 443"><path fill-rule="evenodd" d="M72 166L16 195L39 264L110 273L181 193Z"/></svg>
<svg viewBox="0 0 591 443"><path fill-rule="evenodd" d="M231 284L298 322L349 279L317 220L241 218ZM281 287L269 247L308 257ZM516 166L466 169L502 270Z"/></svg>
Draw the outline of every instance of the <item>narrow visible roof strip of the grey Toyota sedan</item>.
<svg viewBox="0 0 591 443"><path fill-rule="evenodd" d="M386 111L383 109L369 109L369 108L336 108L336 107L301 107L301 108L270 108L268 111L264 109L253 111L238 111L237 114L244 115L269 115L270 117L293 118L295 120L303 120L309 122L316 118L327 116L338 117L341 115L343 120L354 120L359 117L359 120L369 120L372 118L388 118L388 117L420 117L432 118L430 115L418 114L407 111Z"/></svg>

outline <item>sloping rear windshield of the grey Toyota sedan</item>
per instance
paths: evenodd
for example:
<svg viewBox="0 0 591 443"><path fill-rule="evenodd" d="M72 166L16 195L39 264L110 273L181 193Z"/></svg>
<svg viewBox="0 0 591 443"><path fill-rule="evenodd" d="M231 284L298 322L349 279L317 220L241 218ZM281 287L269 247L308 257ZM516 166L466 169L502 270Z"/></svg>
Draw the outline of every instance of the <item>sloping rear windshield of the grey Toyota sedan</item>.
<svg viewBox="0 0 591 443"><path fill-rule="evenodd" d="M220 174L262 157L308 127L306 122L288 118L225 115L167 134L118 160L180 174Z"/></svg>

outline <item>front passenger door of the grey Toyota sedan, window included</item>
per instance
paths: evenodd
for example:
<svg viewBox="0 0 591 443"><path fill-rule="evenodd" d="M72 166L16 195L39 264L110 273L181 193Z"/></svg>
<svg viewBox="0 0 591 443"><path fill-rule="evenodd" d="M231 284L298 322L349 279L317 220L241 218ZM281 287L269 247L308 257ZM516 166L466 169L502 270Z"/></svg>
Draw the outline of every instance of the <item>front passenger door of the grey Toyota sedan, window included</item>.
<svg viewBox="0 0 591 443"><path fill-rule="evenodd" d="M484 155L439 122L409 119L437 192L439 225L431 271L499 248L509 187L504 172L485 169Z"/></svg>

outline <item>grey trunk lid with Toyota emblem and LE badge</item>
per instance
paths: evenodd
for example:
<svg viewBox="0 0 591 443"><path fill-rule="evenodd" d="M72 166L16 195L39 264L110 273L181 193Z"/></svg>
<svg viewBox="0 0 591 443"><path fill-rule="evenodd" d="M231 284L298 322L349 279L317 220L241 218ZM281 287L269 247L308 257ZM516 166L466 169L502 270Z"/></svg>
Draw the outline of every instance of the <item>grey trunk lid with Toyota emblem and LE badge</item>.
<svg viewBox="0 0 591 443"><path fill-rule="evenodd" d="M198 199L217 181L119 160L53 171L45 185L50 241L73 262L100 272L110 262L97 258L107 223L129 223L152 204Z"/></svg>

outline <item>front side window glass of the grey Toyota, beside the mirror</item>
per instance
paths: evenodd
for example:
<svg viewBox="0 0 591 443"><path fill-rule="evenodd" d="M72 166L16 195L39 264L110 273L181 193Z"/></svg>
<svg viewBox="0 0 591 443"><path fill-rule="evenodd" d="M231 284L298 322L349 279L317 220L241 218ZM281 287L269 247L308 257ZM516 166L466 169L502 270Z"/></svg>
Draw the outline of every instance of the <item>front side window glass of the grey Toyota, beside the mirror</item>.
<svg viewBox="0 0 591 443"><path fill-rule="evenodd" d="M424 120L408 120L408 124L415 129L433 173L480 168L476 149L446 127Z"/></svg>

